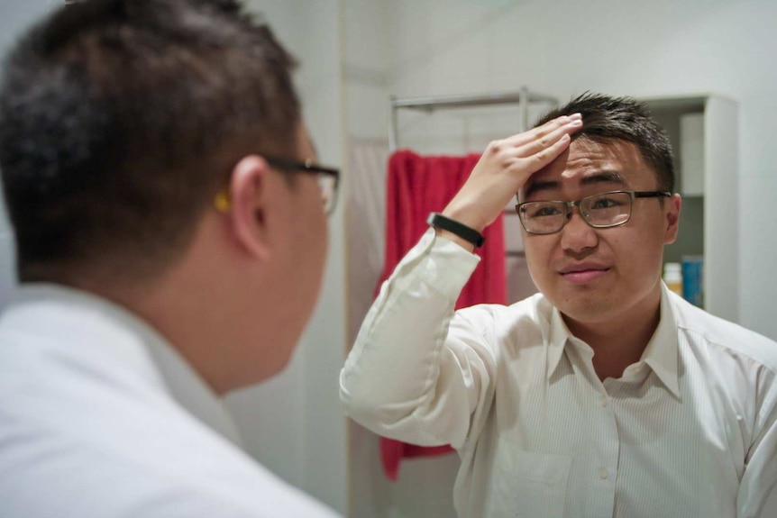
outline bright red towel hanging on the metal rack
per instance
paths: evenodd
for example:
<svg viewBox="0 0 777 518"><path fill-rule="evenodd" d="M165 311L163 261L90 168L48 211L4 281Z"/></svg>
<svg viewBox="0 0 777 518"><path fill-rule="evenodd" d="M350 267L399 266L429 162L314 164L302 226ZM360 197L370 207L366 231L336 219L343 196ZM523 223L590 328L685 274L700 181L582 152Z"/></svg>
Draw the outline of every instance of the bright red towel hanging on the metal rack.
<svg viewBox="0 0 777 518"><path fill-rule="evenodd" d="M441 212L452 199L480 155L421 157L408 150L389 158L386 203L386 261L378 288L428 229L426 218ZM476 253L480 264L456 302L456 309L473 304L507 304L505 235L502 217L483 232L486 242ZM403 458L428 457L453 451L450 446L422 447L380 438L380 459L386 476L396 480Z"/></svg>

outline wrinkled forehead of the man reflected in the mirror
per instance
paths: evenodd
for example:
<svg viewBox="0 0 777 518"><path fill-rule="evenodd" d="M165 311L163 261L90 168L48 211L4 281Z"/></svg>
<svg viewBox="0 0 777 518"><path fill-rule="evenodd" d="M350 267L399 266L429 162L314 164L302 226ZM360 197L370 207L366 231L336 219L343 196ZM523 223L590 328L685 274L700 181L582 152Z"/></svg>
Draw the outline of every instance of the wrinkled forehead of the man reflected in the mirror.
<svg viewBox="0 0 777 518"><path fill-rule="evenodd" d="M654 188L656 182L654 171L644 163L635 144L580 138L559 158L532 175L520 194L526 198L543 191L581 186L591 186L593 191L647 189Z"/></svg>

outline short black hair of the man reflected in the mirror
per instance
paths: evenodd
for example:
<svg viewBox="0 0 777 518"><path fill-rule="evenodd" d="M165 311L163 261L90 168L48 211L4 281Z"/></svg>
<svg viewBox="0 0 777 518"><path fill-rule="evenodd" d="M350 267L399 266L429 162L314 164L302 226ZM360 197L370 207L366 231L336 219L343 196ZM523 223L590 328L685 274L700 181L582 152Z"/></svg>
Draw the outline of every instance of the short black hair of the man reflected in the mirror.
<svg viewBox="0 0 777 518"><path fill-rule="evenodd" d="M619 140L634 143L644 162L658 177L658 188L673 192L672 146L666 132L654 121L644 103L631 97L586 92L567 105L545 114L535 127L571 114L581 114L583 123L582 128L572 134L572 140L586 138L597 142Z"/></svg>

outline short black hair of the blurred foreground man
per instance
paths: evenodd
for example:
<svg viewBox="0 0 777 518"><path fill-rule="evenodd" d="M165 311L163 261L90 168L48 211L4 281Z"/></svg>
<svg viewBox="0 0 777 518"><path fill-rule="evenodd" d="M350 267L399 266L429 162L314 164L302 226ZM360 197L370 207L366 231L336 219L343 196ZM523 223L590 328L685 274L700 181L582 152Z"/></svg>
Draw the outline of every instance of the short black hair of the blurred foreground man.
<svg viewBox="0 0 777 518"><path fill-rule="evenodd" d="M18 41L0 169L22 281L157 275L245 154L297 150L296 66L235 0L85 0Z"/></svg>

